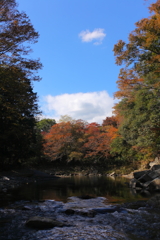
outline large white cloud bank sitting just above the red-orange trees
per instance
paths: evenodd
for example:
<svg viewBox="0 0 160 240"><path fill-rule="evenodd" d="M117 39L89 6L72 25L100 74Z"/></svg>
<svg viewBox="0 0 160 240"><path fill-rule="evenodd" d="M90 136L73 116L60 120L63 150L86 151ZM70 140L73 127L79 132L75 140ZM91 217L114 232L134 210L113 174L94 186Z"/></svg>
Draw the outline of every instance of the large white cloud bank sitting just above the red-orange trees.
<svg viewBox="0 0 160 240"><path fill-rule="evenodd" d="M56 121L61 115L69 115L73 119L101 124L102 120L112 115L114 102L106 91L47 95L44 97L42 111L43 116L54 118Z"/></svg>

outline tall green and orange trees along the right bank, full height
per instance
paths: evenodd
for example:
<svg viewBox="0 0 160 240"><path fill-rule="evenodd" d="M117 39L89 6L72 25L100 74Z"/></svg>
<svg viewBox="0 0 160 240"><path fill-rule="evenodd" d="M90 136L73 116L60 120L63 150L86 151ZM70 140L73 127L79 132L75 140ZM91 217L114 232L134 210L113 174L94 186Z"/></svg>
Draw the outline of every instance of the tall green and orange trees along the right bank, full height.
<svg viewBox="0 0 160 240"><path fill-rule="evenodd" d="M115 93L120 99L115 112L122 119L121 136L113 145L117 152L125 149L128 158L131 152L137 159L151 158L160 148L160 0L149 10L151 15L136 23L128 43L120 40L114 46L116 63L124 67Z"/></svg>

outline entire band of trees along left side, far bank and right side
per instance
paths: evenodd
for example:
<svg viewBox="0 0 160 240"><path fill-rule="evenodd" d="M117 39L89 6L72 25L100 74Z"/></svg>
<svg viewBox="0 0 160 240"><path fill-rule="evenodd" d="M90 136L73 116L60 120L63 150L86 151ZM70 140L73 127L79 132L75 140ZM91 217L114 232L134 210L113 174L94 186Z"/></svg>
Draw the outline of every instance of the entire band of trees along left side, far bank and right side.
<svg viewBox="0 0 160 240"><path fill-rule="evenodd" d="M102 125L62 118L38 121L32 82L38 60L25 55L38 33L15 0L0 1L0 158L1 167L41 162L138 165L160 151L160 0L114 46L122 65L113 116Z"/></svg>

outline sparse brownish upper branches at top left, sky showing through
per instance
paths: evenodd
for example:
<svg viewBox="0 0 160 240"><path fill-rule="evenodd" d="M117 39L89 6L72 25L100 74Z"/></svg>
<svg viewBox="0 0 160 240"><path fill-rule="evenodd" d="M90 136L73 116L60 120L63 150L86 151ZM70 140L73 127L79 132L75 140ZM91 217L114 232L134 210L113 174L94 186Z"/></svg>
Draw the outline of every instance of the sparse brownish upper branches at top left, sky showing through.
<svg viewBox="0 0 160 240"><path fill-rule="evenodd" d="M31 80L39 80L34 73L41 68L41 63L24 57L31 52L27 43L36 43L39 34L27 15L16 7L15 0L0 1L0 63L3 67L16 66Z"/></svg>

